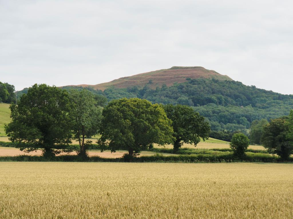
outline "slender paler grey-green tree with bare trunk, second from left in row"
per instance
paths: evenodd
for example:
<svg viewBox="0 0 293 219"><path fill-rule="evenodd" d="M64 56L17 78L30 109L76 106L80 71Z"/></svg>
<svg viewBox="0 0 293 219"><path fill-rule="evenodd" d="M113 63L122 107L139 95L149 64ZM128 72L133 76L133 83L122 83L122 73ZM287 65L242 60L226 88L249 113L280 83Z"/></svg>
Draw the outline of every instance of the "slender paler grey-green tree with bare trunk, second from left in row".
<svg viewBox="0 0 293 219"><path fill-rule="evenodd" d="M86 89L81 91L70 90L69 98L72 102L70 117L74 139L79 141L80 147L78 155L87 157L86 150L91 141L85 142L85 138L98 133L103 108L96 106L98 103L95 100L95 95Z"/></svg>

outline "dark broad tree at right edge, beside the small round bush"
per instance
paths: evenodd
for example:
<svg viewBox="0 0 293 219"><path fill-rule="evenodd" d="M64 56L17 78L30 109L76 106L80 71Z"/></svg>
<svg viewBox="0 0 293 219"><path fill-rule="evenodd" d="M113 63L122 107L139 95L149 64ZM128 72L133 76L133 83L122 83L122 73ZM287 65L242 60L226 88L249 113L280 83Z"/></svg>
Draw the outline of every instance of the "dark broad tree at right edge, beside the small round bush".
<svg viewBox="0 0 293 219"><path fill-rule="evenodd" d="M264 126L261 142L271 153L287 160L293 152L292 136L290 136L288 117L273 119Z"/></svg>

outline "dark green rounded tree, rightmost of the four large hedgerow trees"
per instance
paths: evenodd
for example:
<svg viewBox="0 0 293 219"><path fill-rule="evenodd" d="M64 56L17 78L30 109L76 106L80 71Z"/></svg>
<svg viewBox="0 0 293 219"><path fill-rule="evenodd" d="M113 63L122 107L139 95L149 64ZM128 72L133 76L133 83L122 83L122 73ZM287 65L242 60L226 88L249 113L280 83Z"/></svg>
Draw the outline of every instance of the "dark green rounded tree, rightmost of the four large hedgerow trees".
<svg viewBox="0 0 293 219"><path fill-rule="evenodd" d="M177 151L183 143L196 146L200 142L200 138L203 140L209 138L209 123L191 107L168 104L164 106L164 110L168 119L172 121L174 151Z"/></svg>

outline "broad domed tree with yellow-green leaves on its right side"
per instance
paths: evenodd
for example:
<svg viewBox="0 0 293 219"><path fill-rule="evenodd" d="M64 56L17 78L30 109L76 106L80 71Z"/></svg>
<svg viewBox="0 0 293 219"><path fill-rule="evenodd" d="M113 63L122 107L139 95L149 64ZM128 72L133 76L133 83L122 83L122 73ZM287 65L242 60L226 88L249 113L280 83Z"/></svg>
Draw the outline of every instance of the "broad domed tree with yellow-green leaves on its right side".
<svg viewBox="0 0 293 219"><path fill-rule="evenodd" d="M163 107L139 98L109 102L103 109L100 133L99 144L112 152L126 149L130 157L152 143L173 142L171 120Z"/></svg>

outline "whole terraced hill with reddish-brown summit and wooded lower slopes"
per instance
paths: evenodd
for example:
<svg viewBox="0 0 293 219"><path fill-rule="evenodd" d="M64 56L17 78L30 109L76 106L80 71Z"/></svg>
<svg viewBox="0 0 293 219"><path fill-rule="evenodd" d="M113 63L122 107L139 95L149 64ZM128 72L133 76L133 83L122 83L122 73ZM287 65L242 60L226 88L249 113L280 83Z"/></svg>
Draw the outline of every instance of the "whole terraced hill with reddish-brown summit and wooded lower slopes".
<svg viewBox="0 0 293 219"><path fill-rule="evenodd" d="M203 67L172 67L103 84L62 88L86 88L100 95L100 100L137 97L152 103L189 105L206 117L214 131L248 133L252 121L282 117L293 108L293 95L246 86Z"/></svg>

